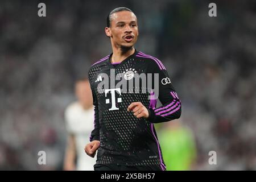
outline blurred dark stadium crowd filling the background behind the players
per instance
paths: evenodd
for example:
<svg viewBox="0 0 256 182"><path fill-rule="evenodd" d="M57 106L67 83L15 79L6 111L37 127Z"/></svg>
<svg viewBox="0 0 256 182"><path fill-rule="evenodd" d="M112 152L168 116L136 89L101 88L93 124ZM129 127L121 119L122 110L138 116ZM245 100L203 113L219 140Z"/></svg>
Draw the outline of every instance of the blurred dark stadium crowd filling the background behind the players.
<svg viewBox="0 0 256 182"><path fill-rule="evenodd" d="M196 146L189 169L256 169L255 1L40 2L45 18L39 1L0 2L0 169L62 169L73 82L111 52L106 15L119 6L134 10L136 48L163 61L179 94Z"/></svg>

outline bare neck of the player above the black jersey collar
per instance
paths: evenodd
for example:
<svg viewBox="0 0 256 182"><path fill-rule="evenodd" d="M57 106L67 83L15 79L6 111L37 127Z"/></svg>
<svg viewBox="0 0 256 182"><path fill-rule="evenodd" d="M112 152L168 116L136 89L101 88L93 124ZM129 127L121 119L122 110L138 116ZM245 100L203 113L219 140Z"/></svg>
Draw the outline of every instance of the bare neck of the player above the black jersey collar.
<svg viewBox="0 0 256 182"><path fill-rule="evenodd" d="M125 60L127 57L130 55L133 55L135 52L135 48L118 48L118 49L113 49L113 55L111 58L111 63L121 63L123 60Z"/></svg>

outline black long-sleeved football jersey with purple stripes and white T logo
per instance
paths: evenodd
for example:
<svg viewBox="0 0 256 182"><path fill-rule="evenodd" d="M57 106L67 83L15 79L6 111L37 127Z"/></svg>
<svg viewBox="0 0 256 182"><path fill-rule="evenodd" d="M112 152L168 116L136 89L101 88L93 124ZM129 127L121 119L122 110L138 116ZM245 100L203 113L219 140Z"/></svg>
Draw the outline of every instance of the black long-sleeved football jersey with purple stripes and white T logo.
<svg viewBox="0 0 256 182"><path fill-rule="evenodd" d="M121 63L106 56L88 73L93 93L94 130L90 141L100 140L96 164L125 166L165 165L154 123L181 115L181 102L166 68L155 57L135 50ZM159 98L162 106L156 107ZM149 117L137 118L127 107L141 102Z"/></svg>

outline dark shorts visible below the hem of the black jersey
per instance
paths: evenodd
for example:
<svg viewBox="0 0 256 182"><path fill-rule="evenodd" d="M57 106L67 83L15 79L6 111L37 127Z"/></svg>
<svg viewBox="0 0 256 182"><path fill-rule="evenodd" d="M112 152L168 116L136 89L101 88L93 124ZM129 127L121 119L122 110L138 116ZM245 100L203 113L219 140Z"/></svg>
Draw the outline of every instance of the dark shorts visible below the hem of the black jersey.
<svg viewBox="0 0 256 182"><path fill-rule="evenodd" d="M160 165L155 166L120 166L116 164L95 164L94 171L163 171Z"/></svg>

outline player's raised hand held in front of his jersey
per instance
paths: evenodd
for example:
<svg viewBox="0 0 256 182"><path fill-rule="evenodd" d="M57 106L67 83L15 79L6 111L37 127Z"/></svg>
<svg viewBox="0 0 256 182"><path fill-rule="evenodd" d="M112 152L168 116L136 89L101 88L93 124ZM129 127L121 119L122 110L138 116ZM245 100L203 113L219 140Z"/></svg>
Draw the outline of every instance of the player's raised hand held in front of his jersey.
<svg viewBox="0 0 256 182"><path fill-rule="evenodd" d="M133 111L133 114L137 118L148 118L148 110L141 102L133 102L127 108L127 111Z"/></svg>

